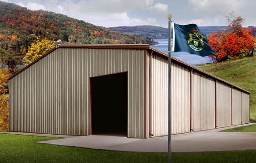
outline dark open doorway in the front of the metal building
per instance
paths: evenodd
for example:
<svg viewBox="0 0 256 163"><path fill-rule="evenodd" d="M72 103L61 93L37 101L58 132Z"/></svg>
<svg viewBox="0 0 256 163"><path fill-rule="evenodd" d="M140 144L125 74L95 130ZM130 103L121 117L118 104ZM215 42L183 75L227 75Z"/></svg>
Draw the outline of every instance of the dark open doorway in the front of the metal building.
<svg viewBox="0 0 256 163"><path fill-rule="evenodd" d="M127 72L91 78L92 134L127 137Z"/></svg>

